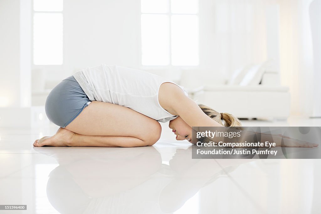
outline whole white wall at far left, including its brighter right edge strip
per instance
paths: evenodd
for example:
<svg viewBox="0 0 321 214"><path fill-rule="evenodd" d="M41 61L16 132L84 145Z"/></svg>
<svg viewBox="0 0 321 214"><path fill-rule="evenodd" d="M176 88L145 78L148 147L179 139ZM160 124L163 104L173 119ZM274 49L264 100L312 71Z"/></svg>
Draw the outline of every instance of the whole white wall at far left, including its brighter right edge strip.
<svg viewBox="0 0 321 214"><path fill-rule="evenodd" d="M0 108L31 105L30 6L0 1Z"/></svg>

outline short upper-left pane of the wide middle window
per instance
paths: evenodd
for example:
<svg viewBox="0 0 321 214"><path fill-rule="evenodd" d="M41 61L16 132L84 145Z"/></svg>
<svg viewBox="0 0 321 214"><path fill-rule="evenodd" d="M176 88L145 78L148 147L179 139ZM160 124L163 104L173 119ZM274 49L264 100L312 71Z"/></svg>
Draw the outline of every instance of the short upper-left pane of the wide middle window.
<svg viewBox="0 0 321 214"><path fill-rule="evenodd" d="M141 0L142 13L168 13L169 0Z"/></svg>

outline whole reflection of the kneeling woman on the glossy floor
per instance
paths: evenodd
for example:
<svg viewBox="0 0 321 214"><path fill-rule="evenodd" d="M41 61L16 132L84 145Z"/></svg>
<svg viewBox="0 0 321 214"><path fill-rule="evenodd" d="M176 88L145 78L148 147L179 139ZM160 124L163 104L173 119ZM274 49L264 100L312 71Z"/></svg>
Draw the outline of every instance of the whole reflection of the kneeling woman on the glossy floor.
<svg viewBox="0 0 321 214"><path fill-rule="evenodd" d="M191 159L191 147L178 149L169 166L154 147L77 151L51 155L59 166L49 175L47 195L60 213L174 212L226 169L253 161Z"/></svg>

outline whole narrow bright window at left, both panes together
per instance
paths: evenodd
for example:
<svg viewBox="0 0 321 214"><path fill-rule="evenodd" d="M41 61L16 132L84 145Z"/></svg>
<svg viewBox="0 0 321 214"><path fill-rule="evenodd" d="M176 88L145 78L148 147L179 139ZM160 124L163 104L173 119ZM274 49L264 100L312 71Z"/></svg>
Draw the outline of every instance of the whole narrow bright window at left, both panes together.
<svg viewBox="0 0 321 214"><path fill-rule="evenodd" d="M33 0L33 64L63 63L63 0Z"/></svg>

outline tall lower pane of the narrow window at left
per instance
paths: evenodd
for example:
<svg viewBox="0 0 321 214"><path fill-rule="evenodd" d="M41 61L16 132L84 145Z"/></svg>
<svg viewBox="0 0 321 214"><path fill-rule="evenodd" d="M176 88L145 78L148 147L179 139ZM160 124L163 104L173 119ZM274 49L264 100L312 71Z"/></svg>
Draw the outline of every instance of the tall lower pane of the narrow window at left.
<svg viewBox="0 0 321 214"><path fill-rule="evenodd" d="M62 13L35 13L33 16L33 63L37 65L63 62Z"/></svg>

